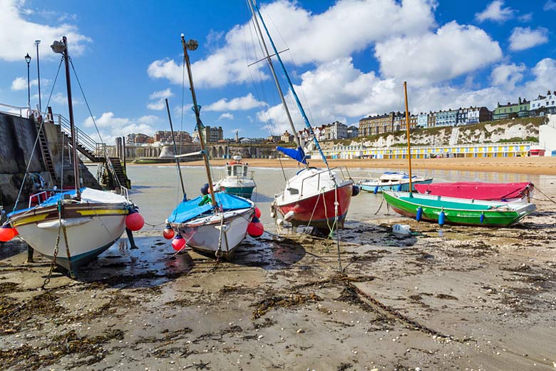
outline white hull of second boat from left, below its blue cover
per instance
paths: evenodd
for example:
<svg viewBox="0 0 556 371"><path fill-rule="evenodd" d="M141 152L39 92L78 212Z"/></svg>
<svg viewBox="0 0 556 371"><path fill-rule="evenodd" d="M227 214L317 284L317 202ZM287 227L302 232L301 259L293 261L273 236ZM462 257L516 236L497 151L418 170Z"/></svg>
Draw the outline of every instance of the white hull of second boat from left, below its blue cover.
<svg viewBox="0 0 556 371"><path fill-rule="evenodd" d="M231 258L232 254L247 235L247 226L254 215L254 207L240 210L225 211L224 225L227 230L222 233L222 256ZM219 250L220 214L196 218L187 223L172 224L180 235L185 238L187 246L192 250L212 257Z"/></svg>

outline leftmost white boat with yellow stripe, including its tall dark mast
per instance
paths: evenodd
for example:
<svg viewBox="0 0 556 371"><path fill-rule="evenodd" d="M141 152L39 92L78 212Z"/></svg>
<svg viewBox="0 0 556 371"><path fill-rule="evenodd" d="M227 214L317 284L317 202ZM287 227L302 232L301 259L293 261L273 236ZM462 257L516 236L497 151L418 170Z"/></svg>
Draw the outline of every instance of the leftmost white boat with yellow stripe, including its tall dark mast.
<svg viewBox="0 0 556 371"><path fill-rule="evenodd" d="M78 268L93 260L117 241L126 228L126 218L136 206L127 195L81 188L76 153L76 129L73 121L71 81L66 36L54 41L54 52L61 53L66 64L68 110L73 148L75 189L55 193L38 205L10 213L9 223L22 240L38 253L76 275ZM36 196L37 199L42 199Z"/></svg>

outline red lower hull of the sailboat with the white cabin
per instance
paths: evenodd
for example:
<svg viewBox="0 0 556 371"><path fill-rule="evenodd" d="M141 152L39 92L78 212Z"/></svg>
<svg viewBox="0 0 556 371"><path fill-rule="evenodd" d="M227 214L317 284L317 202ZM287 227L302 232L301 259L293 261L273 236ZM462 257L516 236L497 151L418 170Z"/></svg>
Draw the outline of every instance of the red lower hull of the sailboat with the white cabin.
<svg viewBox="0 0 556 371"><path fill-rule="evenodd" d="M276 208L282 216L293 211L294 215L288 221L292 225L308 225L316 228L332 229L336 213L334 203L338 201L338 228L344 228L351 195L353 193L353 181L341 183L338 188L331 188L316 195L309 195L292 203L279 204Z"/></svg>

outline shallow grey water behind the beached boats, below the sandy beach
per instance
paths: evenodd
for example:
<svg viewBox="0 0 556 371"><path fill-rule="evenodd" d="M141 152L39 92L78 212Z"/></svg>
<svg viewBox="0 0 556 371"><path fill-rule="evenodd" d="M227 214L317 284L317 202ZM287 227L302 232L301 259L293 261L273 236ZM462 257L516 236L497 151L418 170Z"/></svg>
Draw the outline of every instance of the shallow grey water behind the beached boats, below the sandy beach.
<svg viewBox="0 0 556 371"><path fill-rule="evenodd" d="M269 231L273 231L274 220L270 217L270 204L275 193L284 187L284 174L289 178L298 170L295 168L252 168L257 188L253 200L262 211L262 223ZM377 178L384 171L391 169L352 169L350 174L354 178ZM213 174L217 180L221 168L215 168ZM200 194L200 188L206 181L205 168L200 166L182 166L185 192L188 198ZM529 176L515 173L483 173L475 171L414 171L413 175L432 176L433 182L449 181L484 181L484 182L525 182L531 181L542 193L552 194L553 183L556 176ZM175 205L182 200L182 192L177 170L173 165L157 166L128 166L128 176L131 179L132 190L130 198L135 202L145 218L145 230L162 229L168 215L172 213ZM538 195L539 193L537 193ZM351 199L348 213L349 220L369 221L392 218L396 214L387 213L386 205L382 205L383 198L380 194L361 192L356 198ZM378 210L378 213L377 213Z"/></svg>

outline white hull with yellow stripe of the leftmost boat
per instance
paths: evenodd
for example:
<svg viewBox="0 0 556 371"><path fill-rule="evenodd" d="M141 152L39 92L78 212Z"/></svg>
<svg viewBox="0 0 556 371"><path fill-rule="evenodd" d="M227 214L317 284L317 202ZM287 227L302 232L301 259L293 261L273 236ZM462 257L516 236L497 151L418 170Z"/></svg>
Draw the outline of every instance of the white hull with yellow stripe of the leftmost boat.
<svg viewBox="0 0 556 371"><path fill-rule="evenodd" d="M126 215L124 204L64 205L60 228L57 205L52 205L12 215L10 221L22 240L51 260L60 230L56 264L75 273L120 238Z"/></svg>

